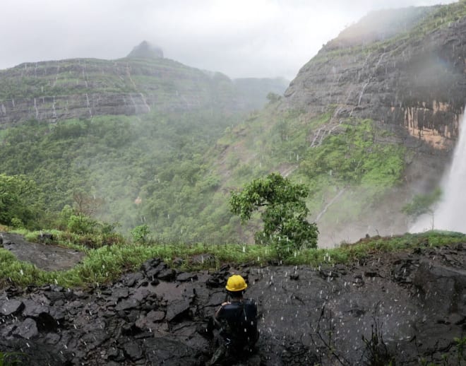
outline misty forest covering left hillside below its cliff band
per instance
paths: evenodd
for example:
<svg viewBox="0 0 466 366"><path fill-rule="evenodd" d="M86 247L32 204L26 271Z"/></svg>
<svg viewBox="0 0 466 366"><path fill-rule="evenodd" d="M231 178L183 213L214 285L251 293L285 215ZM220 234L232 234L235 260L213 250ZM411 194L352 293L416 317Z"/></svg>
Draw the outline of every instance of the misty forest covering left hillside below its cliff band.
<svg viewBox="0 0 466 366"><path fill-rule="evenodd" d="M211 111L56 125L31 121L4 133L0 166L6 175L26 175L39 187L36 199L43 204L35 213L40 220L26 227L56 227L61 210L79 206L85 192L96 218L121 223L123 229L148 223L169 230L182 225L178 216L196 216L217 187L219 179L207 170L204 154L234 123L234 117Z"/></svg>

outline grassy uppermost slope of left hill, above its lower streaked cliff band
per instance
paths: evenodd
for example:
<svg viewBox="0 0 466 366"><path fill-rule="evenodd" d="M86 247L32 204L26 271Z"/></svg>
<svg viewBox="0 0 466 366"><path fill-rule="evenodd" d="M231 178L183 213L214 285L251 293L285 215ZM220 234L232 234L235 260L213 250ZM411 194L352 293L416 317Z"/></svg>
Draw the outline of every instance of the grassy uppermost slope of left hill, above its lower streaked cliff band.
<svg viewBox="0 0 466 366"><path fill-rule="evenodd" d="M0 100L85 93L157 93L157 90L170 93L180 86L181 90L189 89L189 83L177 83L177 79L203 82L209 79L202 71L169 59L44 61L21 64L0 71L0 75L3 81Z"/></svg>

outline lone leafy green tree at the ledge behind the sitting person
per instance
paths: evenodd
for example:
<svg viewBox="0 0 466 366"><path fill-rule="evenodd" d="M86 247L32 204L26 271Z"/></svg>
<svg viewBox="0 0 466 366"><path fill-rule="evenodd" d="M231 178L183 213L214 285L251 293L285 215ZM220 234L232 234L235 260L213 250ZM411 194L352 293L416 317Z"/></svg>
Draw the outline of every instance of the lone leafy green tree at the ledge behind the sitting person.
<svg viewBox="0 0 466 366"><path fill-rule="evenodd" d="M232 192L229 205L242 223L263 208L263 231L256 232L256 243L273 244L279 256L287 256L302 247L317 247L317 225L306 220L309 209L304 199L308 194L306 185L293 184L282 175L271 173Z"/></svg>

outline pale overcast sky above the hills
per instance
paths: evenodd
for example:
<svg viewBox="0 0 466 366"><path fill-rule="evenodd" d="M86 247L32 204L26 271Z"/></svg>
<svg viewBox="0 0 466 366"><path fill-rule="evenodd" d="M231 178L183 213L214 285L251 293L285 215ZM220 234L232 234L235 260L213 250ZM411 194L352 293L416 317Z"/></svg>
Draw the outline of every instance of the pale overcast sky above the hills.
<svg viewBox="0 0 466 366"><path fill-rule="evenodd" d="M147 40L165 57L231 78L291 80L371 10L448 0L1 0L0 69L119 59Z"/></svg>

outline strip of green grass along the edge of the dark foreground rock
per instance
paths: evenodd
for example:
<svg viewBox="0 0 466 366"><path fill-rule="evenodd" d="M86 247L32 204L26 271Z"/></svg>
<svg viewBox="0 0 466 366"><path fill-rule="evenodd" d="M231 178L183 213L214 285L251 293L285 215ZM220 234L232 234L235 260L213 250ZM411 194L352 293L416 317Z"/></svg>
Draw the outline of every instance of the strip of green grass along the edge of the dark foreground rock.
<svg viewBox="0 0 466 366"><path fill-rule="evenodd" d="M25 232L22 232L23 234ZM54 232L61 245L83 250L87 256L82 263L67 271L43 271L36 266L18 261L5 249L0 248L0 285L20 286L56 283L71 288L76 286L98 286L113 281L125 271L136 271L144 261L157 257L174 266L174 259L182 259L178 268L185 271L218 269L223 264L249 264L265 266L277 263L270 247L241 244L115 244L99 249L85 249L70 242L64 232ZM26 233L28 240L37 240L38 232ZM79 237L74 237L79 242ZM333 266L347 264L374 253L412 250L416 247L436 247L446 244L465 242L466 235L455 232L426 232L399 237L375 237L356 244L335 249L303 249L289 256L280 264L308 266ZM193 256L205 255L199 263Z"/></svg>

